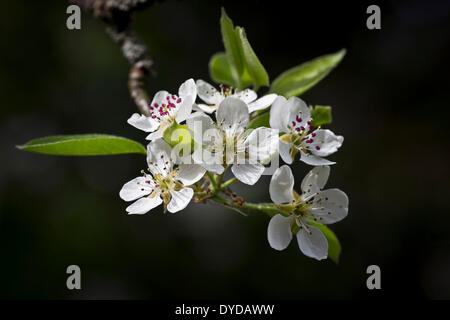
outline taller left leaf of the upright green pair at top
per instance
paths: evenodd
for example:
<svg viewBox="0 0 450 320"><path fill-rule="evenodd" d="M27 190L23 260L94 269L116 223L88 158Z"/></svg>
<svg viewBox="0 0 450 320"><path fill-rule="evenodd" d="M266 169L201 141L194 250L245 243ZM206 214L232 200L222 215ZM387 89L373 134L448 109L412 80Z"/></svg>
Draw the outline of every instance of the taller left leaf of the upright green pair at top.
<svg viewBox="0 0 450 320"><path fill-rule="evenodd" d="M226 54L228 60L233 66L233 84L235 87L240 87L240 78L244 73L244 61L241 57L238 39L236 38L236 34L234 32L233 21L231 21L231 19L227 16L224 8L222 8L222 16L220 17L220 27Z"/></svg>

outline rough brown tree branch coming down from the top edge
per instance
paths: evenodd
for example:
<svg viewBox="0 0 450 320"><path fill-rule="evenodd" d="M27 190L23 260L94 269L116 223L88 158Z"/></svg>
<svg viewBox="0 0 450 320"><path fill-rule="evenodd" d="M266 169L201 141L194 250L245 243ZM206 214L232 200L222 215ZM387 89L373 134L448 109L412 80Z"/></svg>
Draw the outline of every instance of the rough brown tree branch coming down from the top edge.
<svg viewBox="0 0 450 320"><path fill-rule="evenodd" d="M156 0L69 0L106 23L106 31L120 46L130 63L128 89L142 114L149 115L148 77L154 65L147 46L129 26L134 11L152 5Z"/></svg>

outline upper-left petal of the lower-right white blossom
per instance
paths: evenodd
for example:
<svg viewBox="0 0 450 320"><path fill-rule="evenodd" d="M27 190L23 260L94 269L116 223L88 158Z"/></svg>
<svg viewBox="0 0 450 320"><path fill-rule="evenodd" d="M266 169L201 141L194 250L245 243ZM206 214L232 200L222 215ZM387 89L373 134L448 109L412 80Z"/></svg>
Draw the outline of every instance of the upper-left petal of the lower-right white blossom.
<svg viewBox="0 0 450 320"><path fill-rule="evenodd" d="M272 176L269 185L270 199L275 204L289 203L294 200L294 175L288 165L283 165Z"/></svg>

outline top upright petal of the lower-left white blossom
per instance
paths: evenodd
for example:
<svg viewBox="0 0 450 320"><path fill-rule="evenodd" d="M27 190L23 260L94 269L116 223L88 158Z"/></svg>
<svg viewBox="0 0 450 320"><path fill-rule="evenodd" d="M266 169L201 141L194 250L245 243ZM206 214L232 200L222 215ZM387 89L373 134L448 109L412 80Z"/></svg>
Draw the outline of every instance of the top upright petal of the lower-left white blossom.
<svg viewBox="0 0 450 320"><path fill-rule="evenodd" d="M166 176L172 171L172 148L164 139L156 139L148 144L147 164L153 174Z"/></svg>

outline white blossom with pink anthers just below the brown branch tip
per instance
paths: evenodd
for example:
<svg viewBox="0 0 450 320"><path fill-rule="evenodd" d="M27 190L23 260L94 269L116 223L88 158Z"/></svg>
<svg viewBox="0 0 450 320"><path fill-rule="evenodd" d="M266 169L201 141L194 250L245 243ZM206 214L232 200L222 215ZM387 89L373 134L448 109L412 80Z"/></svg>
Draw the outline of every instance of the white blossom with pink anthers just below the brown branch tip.
<svg viewBox="0 0 450 320"><path fill-rule="evenodd" d="M178 96L167 91L158 91L148 107L150 115L134 113L128 123L145 132L151 132L147 140L161 138L173 123L181 123L187 119L196 98L197 87L194 80L189 79L178 89Z"/></svg>

